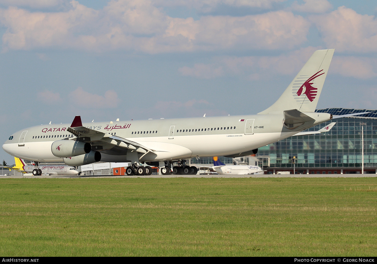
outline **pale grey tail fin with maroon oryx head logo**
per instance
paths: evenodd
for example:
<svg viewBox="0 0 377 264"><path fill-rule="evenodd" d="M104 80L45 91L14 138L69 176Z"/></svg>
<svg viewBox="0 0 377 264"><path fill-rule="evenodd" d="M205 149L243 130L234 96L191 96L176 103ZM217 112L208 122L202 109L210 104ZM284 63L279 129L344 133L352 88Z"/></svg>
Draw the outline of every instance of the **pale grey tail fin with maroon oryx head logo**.
<svg viewBox="0 0 377 264"><path fill-rule="evenodd" d="M333 54L334 49L315 51L280 98L258 114L282 112L289 109L314 112Z"/></svg>

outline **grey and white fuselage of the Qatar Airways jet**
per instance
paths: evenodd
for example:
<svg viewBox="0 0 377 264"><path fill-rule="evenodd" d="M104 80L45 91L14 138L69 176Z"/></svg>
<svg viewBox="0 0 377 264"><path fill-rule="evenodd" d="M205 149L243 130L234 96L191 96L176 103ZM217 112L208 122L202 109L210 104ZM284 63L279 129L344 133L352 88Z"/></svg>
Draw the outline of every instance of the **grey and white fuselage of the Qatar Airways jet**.
<svg viewBox="0 0 377 264"><path fill-rule="evenodd" d="M114 137L139 143L154 153L140 161L178 161L200 156L225 156L247 152L290 137L329 120L329 114L308 113L316 120L295 129L283 125L283 112L266 115L179 118L113 123L84 123L83 126ZM61 162L52 154L54 141L74 139L70 124L40 125L20 130L9 137L3 149L10 155L36 162ZM96 150L96 142L92 142ZM101 161L128 162L127 149L99 150Z"/></svg>

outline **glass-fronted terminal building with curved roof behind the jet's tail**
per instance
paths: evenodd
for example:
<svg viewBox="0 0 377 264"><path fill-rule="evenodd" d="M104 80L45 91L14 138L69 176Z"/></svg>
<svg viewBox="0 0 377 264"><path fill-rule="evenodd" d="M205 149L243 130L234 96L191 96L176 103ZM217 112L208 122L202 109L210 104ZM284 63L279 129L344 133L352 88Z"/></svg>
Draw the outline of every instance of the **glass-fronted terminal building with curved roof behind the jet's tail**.
<svg viewBox="0 0 377 264"><path fill-rule="evenodd" d="M263 165L268 174L278 171L290 171L291 174L376 173L377 110L326 108L316 112L334 116L369 113L333 119L305 130L316 131L325 124L336 122L329 132L294 136L261 147L256 154L259 164L250 165ZM233 162L231 158L219 158L226 164ZM202 158L200 163L211 163L206 159Z"/></svg>

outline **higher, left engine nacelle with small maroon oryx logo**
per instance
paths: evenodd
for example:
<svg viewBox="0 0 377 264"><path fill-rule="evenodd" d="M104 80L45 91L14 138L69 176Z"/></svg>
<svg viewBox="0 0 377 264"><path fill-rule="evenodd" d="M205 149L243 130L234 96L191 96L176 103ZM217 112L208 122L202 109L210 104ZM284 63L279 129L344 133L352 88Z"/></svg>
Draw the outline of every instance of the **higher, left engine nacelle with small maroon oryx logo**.
<svg viewBox="0 0 377 264"><path fill-rule="evenodd" d="M59 158L83 155L89 153L91 149L89 143L74 140L58 140L51 145L52 154Z"/></svg>

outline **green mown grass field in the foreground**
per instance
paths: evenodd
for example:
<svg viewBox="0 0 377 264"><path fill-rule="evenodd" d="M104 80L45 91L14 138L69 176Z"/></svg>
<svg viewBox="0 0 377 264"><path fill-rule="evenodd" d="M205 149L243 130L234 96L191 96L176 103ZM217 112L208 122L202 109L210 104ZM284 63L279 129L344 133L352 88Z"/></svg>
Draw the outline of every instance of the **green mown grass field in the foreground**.
<svg viewBox="0 0 377 264"><path fill-rule="evenodd" d="M0 179L0 255L376 256L376 181Z"/></svg>

